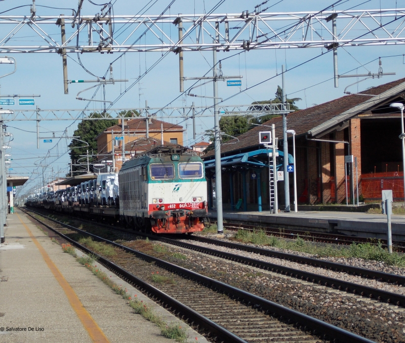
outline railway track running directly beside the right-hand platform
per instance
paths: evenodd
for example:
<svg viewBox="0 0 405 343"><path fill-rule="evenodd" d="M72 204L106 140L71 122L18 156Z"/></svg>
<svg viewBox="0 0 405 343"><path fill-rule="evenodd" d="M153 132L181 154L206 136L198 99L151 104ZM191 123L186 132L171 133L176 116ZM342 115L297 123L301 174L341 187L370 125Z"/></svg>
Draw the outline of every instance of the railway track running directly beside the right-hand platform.
<svg viewBox="0 0 405 343"><path fill-rule="evenodd" d="M214 221L215 222L215 221ZM258 228L264 230L268 235L282 237L282 238L295 238L299 236L303 240L319 243L331 243L338 245L350 245L352 243L370 243L370 244L382 244L383 247L387 247L387 240L385 239L373 239L366 237L353 237L338 234L320 233L314 231L304 230L290 230L279 227L262 226L263 223L258 225L237 224L237 223L224 223L223 226L226 230L238 231L249 230L255 231ZM405 252L405 241L392 241L392 248L394 251Z"/></svg>

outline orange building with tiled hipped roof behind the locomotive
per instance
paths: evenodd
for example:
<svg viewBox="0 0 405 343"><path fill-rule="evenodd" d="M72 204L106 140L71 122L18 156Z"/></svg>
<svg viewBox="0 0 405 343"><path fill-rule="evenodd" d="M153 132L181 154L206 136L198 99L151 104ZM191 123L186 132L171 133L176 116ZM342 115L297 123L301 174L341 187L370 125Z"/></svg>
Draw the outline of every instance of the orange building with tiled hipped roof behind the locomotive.
<svg viewBox="0 0 405 343"><path fill-rule="evenodd" d="M140 142L147 140L147 132L149 136L148 139L152 145L160 145L162 139L165 144L183 145L183 132L185 129L177 124L149 119L146 125L145 118L135 118L129 119L125 123L124 134L122 129L121 125L115 125L104 130L96 137L99 161L104 160L112 163L112 144L114 144L115 172L117 172L123 164L123 144L125 144L125 162L125 160L131 159L131 155L136 149L139 151L139 149L142 148ZM120 137L123 138L116 139ZM146 144L145 141L143 141L143 143ZM133 145L136 146L136 148L133 148Z"/></svg>

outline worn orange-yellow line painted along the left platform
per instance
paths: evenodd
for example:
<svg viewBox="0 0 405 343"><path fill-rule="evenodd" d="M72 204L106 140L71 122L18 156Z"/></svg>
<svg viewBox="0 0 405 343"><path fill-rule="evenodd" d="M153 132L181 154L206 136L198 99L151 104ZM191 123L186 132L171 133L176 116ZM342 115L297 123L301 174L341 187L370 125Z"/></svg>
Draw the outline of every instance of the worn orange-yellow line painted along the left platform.
<svg viewBox="0 0 405 343"><path fill-rule="evenodd" d="M52 274L55 276L55 279L58 280L60 286L65 291L66 296L70 302L71 307L73 308L74 312L76 312L77 317L82 321L83 326L89 332L90 337L95 342L109 342L107 337L104 335L103 331L94 321L92 316L89 312L83 307L82 302L77 297L76 293L74 292L73 288L69 285L66 279L63 277L62 273L59 271L58 267L55 263L51 260L43 246L36 240L36 238L32 235L31 231L29 230L28 226L22 221L21 217L17 214L18 219L20 219L21 223L24 225L25 230L27 230L29 237L35 243L36 247L38 248L39 252L41 252L42 257L44 258L45 262L48 264L49 269L51 270Z"/></svg>

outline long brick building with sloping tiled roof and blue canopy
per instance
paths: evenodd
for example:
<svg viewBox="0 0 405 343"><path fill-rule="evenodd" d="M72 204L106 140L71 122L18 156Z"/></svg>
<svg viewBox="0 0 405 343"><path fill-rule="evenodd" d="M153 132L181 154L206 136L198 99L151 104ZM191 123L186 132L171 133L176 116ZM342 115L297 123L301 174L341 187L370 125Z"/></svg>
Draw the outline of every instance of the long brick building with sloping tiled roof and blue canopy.
<svg viewBox="0 0 405 343"><path fill-rule="evenodd" d="M360 201L381 199L382 189L392 189L394 200L402 200L403 169L400 111L391 103L405 103L405 79L302 109L287 116L287 129L296 132L298 204L346 203L356 193L350 187L356 170L345 156L357 160ZM275 124L278 151L282 154L282 117L255 126L221 145L223 208L265 210L269 208L268 155L259 144L259 132ZM288 138L293 154L293 136ZM282 170L282 159L277 158ZM204 156L211 194L215 194L214 150ZM292 157L289 158L291 164ZM354 165L354 164L353 164ZM294 202L293 175L289 177L290 203ZM284 208L284 181L278 181L278 204ZM209 205L214 206L213 196ZM267 204L267 205L266 205Z"/></svg>

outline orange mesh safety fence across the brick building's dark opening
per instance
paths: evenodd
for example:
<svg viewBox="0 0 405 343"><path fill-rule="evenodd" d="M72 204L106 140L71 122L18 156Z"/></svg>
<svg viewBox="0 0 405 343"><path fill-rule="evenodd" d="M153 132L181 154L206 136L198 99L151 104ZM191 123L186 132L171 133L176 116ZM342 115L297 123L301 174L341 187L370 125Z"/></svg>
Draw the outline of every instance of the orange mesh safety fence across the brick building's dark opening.
<svg viewBox="0 0 405 343"><path fill-rule="evenodd" d="M371 173L361 175L361 194L366 200L381 199L381 191L392 189L394 200L402 200L403 172Z"/></svg>

